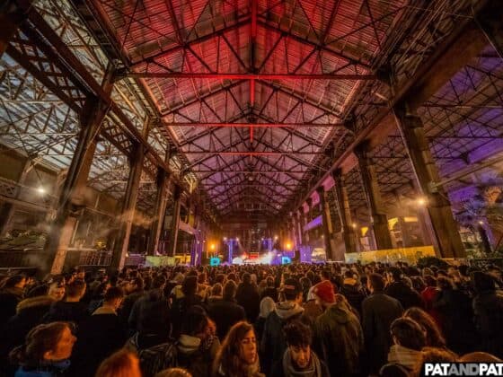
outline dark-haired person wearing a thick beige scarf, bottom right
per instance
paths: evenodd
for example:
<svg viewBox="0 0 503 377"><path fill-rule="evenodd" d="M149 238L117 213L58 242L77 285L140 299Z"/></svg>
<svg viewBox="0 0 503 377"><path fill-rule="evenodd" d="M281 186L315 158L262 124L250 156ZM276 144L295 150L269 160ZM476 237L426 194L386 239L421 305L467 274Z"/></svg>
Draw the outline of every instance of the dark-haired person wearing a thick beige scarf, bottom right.
<svg viewBox="0 0 503 377"><path fill-rule="evenodd" d="M426 334L419 323L409 318L393 320L393 346L379 374L382 377L407 377L421 360L421 349L426 346Z"/></svg>

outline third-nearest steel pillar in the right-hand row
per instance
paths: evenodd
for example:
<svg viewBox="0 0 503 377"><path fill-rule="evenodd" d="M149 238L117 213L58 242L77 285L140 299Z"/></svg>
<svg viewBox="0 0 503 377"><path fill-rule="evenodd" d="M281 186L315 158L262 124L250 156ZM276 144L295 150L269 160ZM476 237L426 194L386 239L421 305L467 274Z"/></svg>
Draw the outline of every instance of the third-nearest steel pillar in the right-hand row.
<svg viewBox="0 0 503 377"><path fill-rule="evenodd" d="M340 227L342 229L342 238L347 253L357 252L358 240L357 233L353 228L351 209L349 207L348 191L344 186L344 178L340 169L332 172L332 179L335 182L335 199L340 217ZM336 255L337 260L344 260L343 255Z"/></svg>

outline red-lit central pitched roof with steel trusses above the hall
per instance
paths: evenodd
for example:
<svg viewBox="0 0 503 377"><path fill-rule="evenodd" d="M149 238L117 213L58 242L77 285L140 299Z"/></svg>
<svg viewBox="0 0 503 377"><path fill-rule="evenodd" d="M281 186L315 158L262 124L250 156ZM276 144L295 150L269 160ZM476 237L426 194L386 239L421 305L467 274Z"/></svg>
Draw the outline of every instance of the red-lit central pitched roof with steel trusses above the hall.
<svg viewBox="0 0 503 377"><path fill-rule="evenodd" d="M120 75L142 84L218 212L269 216L293 209L386 105L384 67L406 79L466 2L440 13L406 0L73 3L93 14Z"/></svg>

